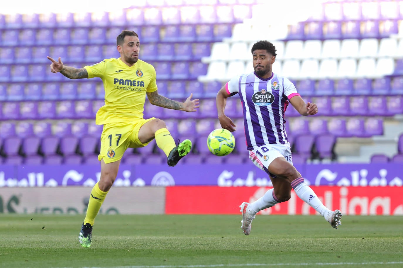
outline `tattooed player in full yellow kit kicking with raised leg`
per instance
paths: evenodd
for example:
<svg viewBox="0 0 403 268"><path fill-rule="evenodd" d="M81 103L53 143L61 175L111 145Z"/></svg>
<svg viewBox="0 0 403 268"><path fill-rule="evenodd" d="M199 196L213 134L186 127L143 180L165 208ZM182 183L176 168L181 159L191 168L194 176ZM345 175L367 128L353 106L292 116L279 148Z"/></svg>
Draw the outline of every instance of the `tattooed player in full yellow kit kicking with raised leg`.
<svg viewBox="0 0 403 268"><path fill-rule="evenodd" d="M151 104L164 108L195 112L199 100L192 94L185 102L170 100L158 94L154 66L139 59L140 41L137 33L124 30L116 38L120 58L110 58L92 66L77 69L50 58L50 71L70 79L100 77L105 88L105 105L96 114L96 124L104 125L101 135L100 181L91 190L87 214L81 226L79 242L91 246L92 226L110 187L116 179L120 160L127 148L139 148L156 139L167 156L169 166L175 166L188 154L192 143L185 139L178 145L158 118L143 118L145 96Z"/></svg>

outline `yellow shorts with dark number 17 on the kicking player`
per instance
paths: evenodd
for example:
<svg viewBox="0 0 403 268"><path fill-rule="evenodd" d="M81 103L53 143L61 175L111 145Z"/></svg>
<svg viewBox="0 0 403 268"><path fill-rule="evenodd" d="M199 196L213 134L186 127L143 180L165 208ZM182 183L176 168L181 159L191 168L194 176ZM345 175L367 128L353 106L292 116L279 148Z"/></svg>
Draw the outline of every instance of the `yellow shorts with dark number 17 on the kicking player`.
<svg viewBox="0 0 403 268"><path fill-rule="evenodd" d="M104 159L105 163L116 162L122 158L127 148L144 147L150 143L141 143L139 130L142 125L153 119L155 117L105 124L101 135L101 150L98 160Z"/></svg>

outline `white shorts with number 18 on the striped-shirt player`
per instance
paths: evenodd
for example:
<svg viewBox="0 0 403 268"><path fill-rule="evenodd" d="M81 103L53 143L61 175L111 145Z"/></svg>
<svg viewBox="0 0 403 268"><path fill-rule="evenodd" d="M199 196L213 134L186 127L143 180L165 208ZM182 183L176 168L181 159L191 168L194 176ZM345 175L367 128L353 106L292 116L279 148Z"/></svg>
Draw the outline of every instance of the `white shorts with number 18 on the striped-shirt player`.
<svg viewBox="0 0 403 268"><path fill-rule="evenodd" d="M268 171L268 166L278 157L284 157L290 164L293 164L289 144L267 144L249 151L249 158L252 160L253 164L269 173L272 177L275 176Z"/></svg>

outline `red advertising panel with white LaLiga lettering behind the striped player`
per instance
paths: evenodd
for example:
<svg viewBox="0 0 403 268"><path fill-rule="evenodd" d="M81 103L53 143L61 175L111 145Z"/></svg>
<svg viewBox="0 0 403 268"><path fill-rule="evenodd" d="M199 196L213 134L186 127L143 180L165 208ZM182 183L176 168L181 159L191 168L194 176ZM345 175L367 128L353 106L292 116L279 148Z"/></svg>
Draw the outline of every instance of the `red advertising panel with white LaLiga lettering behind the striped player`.
<svg viewBox="0 0 403 268"><path fill-rule="evenodd" d="M311 186L331 210L344 215L403 215L402 187ZM242 202L254 202L270 187L175 186L166 187L166 214L237 214ZM315 214L294 191L287 202L261 214Z"/></svg>

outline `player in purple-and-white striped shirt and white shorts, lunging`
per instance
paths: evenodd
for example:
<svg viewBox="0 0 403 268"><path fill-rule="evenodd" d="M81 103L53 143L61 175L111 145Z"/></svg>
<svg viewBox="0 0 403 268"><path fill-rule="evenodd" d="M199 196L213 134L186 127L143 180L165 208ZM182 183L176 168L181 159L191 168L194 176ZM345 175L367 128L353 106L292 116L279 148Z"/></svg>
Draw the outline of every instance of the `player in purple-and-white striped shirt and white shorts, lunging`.
<svg viewBox="0 0 403 268"><path fill-rule="evenodd" d="M315 103L301 98L291 81L272 72L276 48L259 41L251 48L254 71L237 75L217 93L218 119L222 128L235 131L236 125L225 115L226 99L237 94L241 99L249 158L270 176L273 188L249 204L241 204L242 230L251 231L251 222L260 210L288 201L291 188L304 202L320 213L333 228L341 225L340 210L326 208L293 166L290 143L285 131L285 111L289 103L303 116L318 112Z"/></svg>

